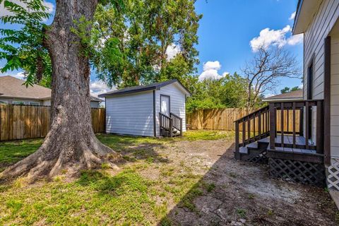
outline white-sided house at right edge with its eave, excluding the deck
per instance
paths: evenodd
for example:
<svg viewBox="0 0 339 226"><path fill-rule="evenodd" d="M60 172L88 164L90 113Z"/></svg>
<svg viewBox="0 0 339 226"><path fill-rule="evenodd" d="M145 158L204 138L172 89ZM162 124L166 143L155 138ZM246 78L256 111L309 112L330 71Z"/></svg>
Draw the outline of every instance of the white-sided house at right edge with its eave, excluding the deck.
<svg viewBox="0 0 339 226"><path fill-rule="evenodd" d="M324 134L311 138L323 136L328 187L339 189L339 1L299 0L292 32L304 34L304 100L323 100ZM315 131L316 117L306 124Z"/></svg>

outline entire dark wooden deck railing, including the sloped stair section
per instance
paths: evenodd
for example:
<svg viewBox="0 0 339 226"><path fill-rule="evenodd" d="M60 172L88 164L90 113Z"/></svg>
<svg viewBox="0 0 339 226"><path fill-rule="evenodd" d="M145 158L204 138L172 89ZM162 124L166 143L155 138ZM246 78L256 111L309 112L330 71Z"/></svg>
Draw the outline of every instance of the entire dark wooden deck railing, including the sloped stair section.
<svg viewBox="0 0 339 226"><path fill-rule="evenodd" d="M268 106L237 119L234 123L236 157L240 155L240 147L268 136L270 150L275 150L275 147L298 148L316 150L316 153L323 154L323 100L270 102ZM314 125L315 128L312 128ZM279 141L277 133L280 135ZM287 134L288 138L292 137L292 142L285 142ZM312 137L312 134L316 136ZM314 137L315 141L312 139ZM303 138L304 142L298 138Z"/></svg>

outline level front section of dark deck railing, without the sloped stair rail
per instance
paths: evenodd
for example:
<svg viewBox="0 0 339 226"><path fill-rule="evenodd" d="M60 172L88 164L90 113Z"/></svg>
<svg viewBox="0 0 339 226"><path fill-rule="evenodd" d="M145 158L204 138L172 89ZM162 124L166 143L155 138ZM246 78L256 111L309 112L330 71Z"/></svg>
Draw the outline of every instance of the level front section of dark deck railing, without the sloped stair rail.
<svg viewBox="0 0 339 226"><path fill-rule="evenodd" d="M289 112L292 110L292 131L280 129L277 131L277 112ZM299 133L304 136L305 142L297 142L297 111L299 110ZM295 102L270 102L270 150L275 147L299 148L316 150L316 153L323 153L323 100L302 100ZM315 115L315 119L314 119ZM285 114L280 114L280 128L284 128ZM304 124L303 121L306 123ZM315 131L312 128L315 121ZM305 126L304 126L305 125ZM314 133L314 132L315 133ZM277 133L280 133L281 140L276 141ZM285 134L292 133L292 142L285 143ZM316 141L312 140L311 134L316 134ZM312 141L312 142L310 142Z"/></svg>

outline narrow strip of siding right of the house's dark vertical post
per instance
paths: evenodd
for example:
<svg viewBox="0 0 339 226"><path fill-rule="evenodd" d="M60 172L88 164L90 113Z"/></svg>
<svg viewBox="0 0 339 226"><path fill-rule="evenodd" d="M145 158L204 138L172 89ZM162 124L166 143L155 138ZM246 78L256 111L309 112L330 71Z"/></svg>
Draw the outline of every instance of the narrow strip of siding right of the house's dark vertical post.
<svg viewBox="0 0 339 226"><path fill-rule="evenodd" d="M339 37L331 37L331 156L339 157Z"/></svg>

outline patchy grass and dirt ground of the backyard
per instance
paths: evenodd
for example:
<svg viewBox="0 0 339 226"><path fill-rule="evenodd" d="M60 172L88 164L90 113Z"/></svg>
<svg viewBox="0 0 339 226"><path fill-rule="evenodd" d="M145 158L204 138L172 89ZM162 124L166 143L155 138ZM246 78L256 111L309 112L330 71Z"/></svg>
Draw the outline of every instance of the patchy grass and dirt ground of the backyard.
<svg viewBox="0 0 339 226"><path fill-rule="evenodd" d="M73 179L64 172L0 184L0 225L339 225L325 189L270 179L266 166L234 160L233 137L102 134L124 158L119 169L103 164ZM13 164L41 142L1 143L0 163Z"/></svg>

